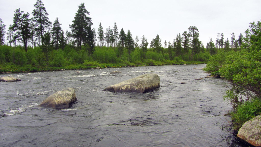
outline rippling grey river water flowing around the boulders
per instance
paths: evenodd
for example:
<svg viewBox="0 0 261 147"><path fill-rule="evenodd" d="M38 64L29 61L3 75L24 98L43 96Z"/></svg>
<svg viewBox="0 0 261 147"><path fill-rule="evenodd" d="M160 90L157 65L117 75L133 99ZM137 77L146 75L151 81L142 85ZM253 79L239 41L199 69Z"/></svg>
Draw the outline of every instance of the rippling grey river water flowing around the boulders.
<svg viewBox="0 0 261 147"><path fill-rule="evenodd" d="M205 78L204 67L2 74L22 81L0 83L0 146L248 146L224 128L231 119L224 116L231 106L222 98L228 82ZM111 75L114 70L122 73ZM102 91L146 73L159 75L160 88L145 94ZM75 88L77 97L69 109L37 106L66 87Z"/></svg>

